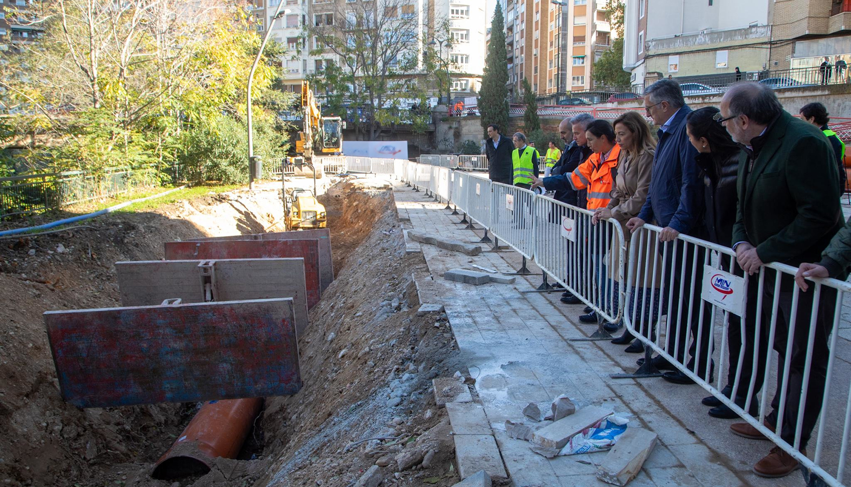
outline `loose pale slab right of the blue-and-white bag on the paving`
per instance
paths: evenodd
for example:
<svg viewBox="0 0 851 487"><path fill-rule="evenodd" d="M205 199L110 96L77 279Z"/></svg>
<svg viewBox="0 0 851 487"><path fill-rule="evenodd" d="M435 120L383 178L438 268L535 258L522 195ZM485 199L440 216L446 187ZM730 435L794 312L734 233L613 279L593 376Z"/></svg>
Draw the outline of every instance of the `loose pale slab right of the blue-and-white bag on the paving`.
<svg viewBox="0 0 851 487"><path fill-rule="evenodd" d="M623 487L641 471L658 438L646 429L627 427L597 468L597 478Z"/></svg>

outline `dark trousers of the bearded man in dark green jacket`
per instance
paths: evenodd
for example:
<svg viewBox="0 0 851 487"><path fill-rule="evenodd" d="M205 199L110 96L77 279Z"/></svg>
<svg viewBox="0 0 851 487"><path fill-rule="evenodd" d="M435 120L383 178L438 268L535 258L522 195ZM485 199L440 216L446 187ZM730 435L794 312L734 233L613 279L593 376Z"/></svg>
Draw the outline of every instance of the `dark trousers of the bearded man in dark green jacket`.
<svg viewBox="0 0 851 487"><path fill-rule="evenodd" d="M764 271L763 271L764 272ZM774 302L774 284L768 285L768 278L763 288L763 307L767 309L768 320L763 318L762 333L768 336L771 326L771 303ZM774 279L771 279L772 281ZM778 414L780 412L780 392L782 391L784 377L784 364L786 355L786 344L789 335L791 321L791 304L794 280L790 275L784 275L780 281L780 296L778 300L779 314L776 319L774 331L774 350L778 353L777 364L777 392L771 402L772 411L766 417L768 423L778 425ZM798 309L796 313L795 332L792 336L791 361L789 365L788 383L786 386L786 400L783 410L783 418L780 421L780 438L789 444L794 444L797 417L801 412L799 404L804 381L804 368L807 364L807 344L810 331L810 315L813 309L814 284L810 284L808 292L798 294ZM834 311L837 303L837 291L827 287L821 288L820 303L817 303L818 312L815 319L815 335L813 341L812 363L809 372L809 384L807 398L804 403L803 421L801 427L801 445L807 445L810 434L813 433L815 422L821 412L821 403L825 393L825 381L827 377L827 362L830 357L830 349L827 346L831 331L833 329Z"/></svg>

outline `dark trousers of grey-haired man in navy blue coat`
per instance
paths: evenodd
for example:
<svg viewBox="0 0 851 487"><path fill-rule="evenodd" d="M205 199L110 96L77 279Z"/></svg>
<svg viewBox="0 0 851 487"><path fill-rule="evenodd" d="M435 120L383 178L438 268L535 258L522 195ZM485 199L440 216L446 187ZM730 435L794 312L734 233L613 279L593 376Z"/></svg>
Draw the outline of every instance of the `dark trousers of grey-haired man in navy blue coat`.
<svg viewBox="0 0 851 487"><path fill-rule="evenodd" d="M666 337L667 351L677 359L681 364L685 358L686 339L688 335L692 336L692 342L688 347L688 353L691 358L686 366L693 370L697 375L704 379L711 379L711 370L709 375L706 375L706 360L711 358L712 353L712 336L711 336L711 305L700 300L700 291L703 288L703 263L705 261L706 249L695 245L688 245L683 240L674 240L667 244L668 251L665 255L665 244L659 245L659 251L665 256L665 272L671 276L671 279L665 279L665 284L670 284L671 287L665 289L663 295L663 312L667 312L668 306L671 307L671 312L668 312L668 324L670 324L670 332ZM676 259L674 250L676 249ZM683 252L686 255L683 255ZM693 272L694 266L694 272ZM682 285L683 294L680 294ZM694 293L694 294L692 294ZM669 301L670 296L670 301ZM689 301L692 301L689 312ZM700 329L700 315L703 311L703 328ZM691 317L691 329L688 326L688 318ZM677 336L678 335L678 336ZM698 350L698 341L700 341L700 350ZM675 356L675 348L677 355ZM700 352L700 362L695 369L695 358Z"/></svg>

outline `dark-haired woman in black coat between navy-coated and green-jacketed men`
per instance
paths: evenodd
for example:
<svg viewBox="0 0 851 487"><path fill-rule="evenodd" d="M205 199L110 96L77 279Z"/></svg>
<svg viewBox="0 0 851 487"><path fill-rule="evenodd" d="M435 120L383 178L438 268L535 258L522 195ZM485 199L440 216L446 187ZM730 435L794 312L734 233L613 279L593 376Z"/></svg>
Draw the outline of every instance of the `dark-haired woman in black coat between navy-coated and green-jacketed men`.
<svg viewBox="0 0 851 487"><path fill-rule="evenodd" d="M733 244L733 224L736 221L736 180L739 172L740 146L736 144L713 117L718 113L714 106L700 108L686 117L686 132L688 140L697 149L695 163L700 167L706 185L705 195L705 231L706 239L724 247ZM732 264L730 257L722 256L722 267L729 270ZM740 272L740 270L737 270ZM727 386L722 393L727 397L733 390L736 377L736 365L741 349L741 318L733 313L728 318L729 370ZM743 371L744 372L744 371ZM747 388L750 377L744 374L740 377L740 391ZM744 389L743 389L744 388ZM746 394L746 393L745 393ZM738 395L738 394L737 394ZM745 396L735 399L736 404L745 406ZM703 399L703 404L712 406L709 414L719 418L738 417L733 410L721 404L715 397ZM755 412L757 400L751 401L751 412Z"/></svg>

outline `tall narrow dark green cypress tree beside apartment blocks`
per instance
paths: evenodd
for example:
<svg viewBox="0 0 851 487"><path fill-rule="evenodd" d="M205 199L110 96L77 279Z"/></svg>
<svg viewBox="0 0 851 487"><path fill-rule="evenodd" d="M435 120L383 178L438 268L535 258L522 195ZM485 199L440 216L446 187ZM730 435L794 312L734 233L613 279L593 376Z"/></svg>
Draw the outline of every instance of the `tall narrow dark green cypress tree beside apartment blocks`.
<svg viewBox="0 0 851 487"><path fill-rule="evenodd" d="M485 134L491 123L496 123L503 132L508 129L508 88L505 86L508 83L508 53L505 50L505 20L502 17L502 7L496 3L478 99Z"/></svg>

